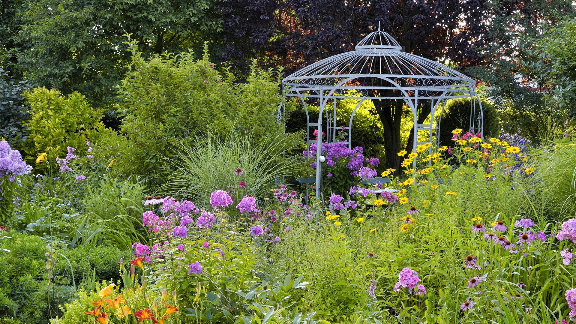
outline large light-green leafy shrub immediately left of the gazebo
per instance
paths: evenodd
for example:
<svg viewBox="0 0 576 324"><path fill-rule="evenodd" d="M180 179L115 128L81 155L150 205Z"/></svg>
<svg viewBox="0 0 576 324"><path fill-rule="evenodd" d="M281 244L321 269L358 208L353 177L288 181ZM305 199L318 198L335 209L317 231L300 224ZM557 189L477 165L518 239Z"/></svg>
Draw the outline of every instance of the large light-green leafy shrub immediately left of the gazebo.
<svg viewBox="0 0 576 324"><path fill-rule="evenodd" d="M236 130L255 138L281 132L275 119L278 83L278 74L255 64L246 82L228 72L222 77L206 50L199 60L193 52L145 59L134 50L118 93L125 115L122 134L130 143L122 148L120 167L126 174L156 172L162 157L175 153L176 143L207 131L220 137Z"/></svg>

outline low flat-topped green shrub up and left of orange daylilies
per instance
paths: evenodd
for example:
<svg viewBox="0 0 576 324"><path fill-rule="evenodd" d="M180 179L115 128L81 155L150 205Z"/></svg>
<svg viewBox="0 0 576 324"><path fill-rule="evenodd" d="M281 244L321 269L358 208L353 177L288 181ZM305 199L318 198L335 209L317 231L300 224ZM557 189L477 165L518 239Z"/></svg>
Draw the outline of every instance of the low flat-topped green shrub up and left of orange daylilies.
<svg viewBox="0 0 576 324"><path fill-rule="evenodd" d="M59 248L56 251L59 255L52 270L54 276L69 278L70 282L74 280L76 285L86 278L91 278L94 270L96 281L120 280L120 259L127 262L132 257L131 250L121 250L113 246L79 246L72 249Z"/></svg>

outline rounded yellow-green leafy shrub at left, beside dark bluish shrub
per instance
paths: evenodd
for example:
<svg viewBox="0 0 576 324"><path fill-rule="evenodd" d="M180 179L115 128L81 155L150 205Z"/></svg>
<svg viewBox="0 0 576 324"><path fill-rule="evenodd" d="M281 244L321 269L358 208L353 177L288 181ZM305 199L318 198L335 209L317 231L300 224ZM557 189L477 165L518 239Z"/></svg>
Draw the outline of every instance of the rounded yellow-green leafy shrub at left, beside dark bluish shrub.
<svg viewBox="0 0 576 324"><path fill-rule="evenodd" d="M30 119L24 124L28 138L21 144L22 156L39 171L56 171L56 157L66 155L66 148L86 153L88 141L97 141L107 133L100 122L102 110L92 108L85 97L74 92L65 97L59 91L35 88L22 95L31 105ZM47 161L34 163L41 153Z"/></svg>

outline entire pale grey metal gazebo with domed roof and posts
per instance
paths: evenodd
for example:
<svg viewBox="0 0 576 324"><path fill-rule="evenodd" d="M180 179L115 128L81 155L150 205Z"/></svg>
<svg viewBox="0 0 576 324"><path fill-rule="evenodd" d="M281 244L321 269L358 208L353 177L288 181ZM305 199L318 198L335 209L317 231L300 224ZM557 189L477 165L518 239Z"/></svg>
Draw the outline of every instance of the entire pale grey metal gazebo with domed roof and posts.
<svg viewBox="0 0 576 324"><path fill-rule="evenodd" d="M476 93L476 82L441 63L401 51L402 47L388 33L372 32L357 44L354 51L344 52L306 66L282 80L286 96L298 97L306 111L308 145L317 142L316 197L321 192L321 143L323 142L323 114L326 113L326 142L334 141L336 129L347 131L347 145L351 146L352 121L362 102L372 100L404 100L414 115L414 146L430 142L438 145L437 132L444 103L450 98L470 97L469 131L482 134L482 105ZM350 91L356 95L350 95ZM359 94L359 96L358 96ZM359 99L347 126L336 125L339 99ZM418 123L418 104L430 101L430 123ZM320 107L317 120L310 122L308 105ZM332 106L332 111L328 107ZM441 107L439 114L437 108ZM278 110L282 117L282 104ZM435 125L435 127L434 127ZM317 129L317 139L310 140L310 130ZM418 131L429 131L427 141L418 142ZM432 148L430 148L431 152ZM414 168L416 167L414 160Z"/></svg>

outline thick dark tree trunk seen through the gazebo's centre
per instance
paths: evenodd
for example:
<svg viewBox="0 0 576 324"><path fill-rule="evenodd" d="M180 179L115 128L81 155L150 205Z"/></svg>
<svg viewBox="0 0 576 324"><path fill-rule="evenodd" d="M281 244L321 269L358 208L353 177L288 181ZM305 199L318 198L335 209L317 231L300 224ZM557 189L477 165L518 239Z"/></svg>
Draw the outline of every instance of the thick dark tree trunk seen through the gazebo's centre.
<svg viewBox="0 0 576 324"><path fill-rule="evenodd" d="M400 163L403 159L398 156L400 152L400 122L402 120L403 100L372 100L376 113L384 126L384 153L386 155L386 168L396 169L395 175L400 174Z"/></svg>

